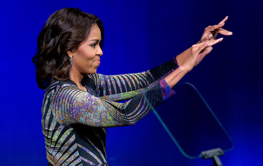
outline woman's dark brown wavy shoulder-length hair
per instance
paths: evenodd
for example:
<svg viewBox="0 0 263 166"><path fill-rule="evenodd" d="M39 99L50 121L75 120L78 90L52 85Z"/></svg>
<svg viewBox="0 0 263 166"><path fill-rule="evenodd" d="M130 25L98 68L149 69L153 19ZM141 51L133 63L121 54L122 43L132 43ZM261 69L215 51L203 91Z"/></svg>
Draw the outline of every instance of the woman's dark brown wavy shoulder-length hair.
<svg viewBox="0 0 263 166"><path fill-rule="evenodd" d="M88 37L91 27L97 24L102 41L104 28L100 19L78 8L63 8L50 15L37 38L37 54L32 58L36 66L36 80L45 89L51 79L69 79L69 56L67 50L78 48Z"/></svg>

